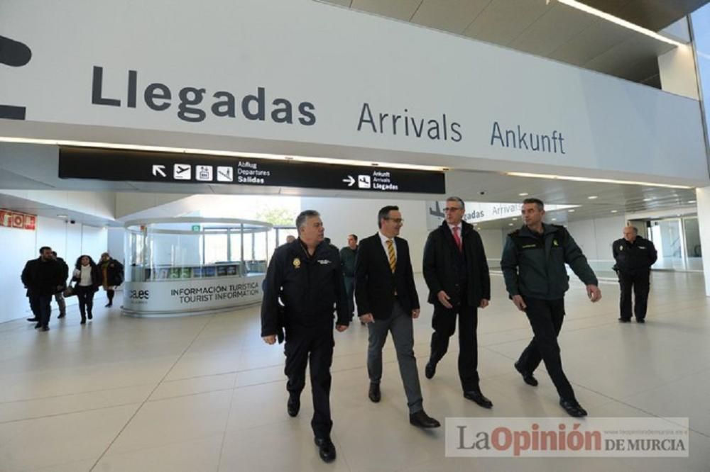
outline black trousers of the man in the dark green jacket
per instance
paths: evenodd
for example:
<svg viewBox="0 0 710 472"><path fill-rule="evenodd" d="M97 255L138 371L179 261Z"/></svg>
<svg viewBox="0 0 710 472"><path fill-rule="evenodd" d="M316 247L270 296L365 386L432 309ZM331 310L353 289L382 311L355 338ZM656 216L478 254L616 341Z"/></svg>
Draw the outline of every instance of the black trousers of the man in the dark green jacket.
<svg viewBox="0 0 710 472"><path fill-rule="evenodd" d="M530 320L530 327L535 337L532 338L518 362L524 371L532 373L540 365L540 360L545 362L547 373L550 373L552 383L557 388L559 398L574 400L574 390L562 371L562 359L559 356L557 335L562 329L564 320L564 299L540 300L525 298L525 314Z"/></svg>

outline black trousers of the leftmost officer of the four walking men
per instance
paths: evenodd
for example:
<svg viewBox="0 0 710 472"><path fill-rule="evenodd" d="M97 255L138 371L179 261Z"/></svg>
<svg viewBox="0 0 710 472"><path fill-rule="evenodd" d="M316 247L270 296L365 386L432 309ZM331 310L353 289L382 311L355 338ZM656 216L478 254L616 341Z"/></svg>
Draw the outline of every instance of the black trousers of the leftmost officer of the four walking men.
<svg viewBox="0 0 710 472"><path fill-rule="evenodd" d="M315 437L330 437L333 427L330 417L330 366L333 363L334 345L332 326L326 330L305 327L286 330L286 390L292 395L300 395L306 384L306 366L310 361L313 395L311 427Z"/></svg>

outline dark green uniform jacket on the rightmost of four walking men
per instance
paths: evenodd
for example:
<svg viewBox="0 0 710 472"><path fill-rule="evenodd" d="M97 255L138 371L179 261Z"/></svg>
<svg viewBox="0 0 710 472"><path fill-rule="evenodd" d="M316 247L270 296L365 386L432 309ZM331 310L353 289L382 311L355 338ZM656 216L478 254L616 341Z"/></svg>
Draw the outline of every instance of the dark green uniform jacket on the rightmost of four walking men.
<svg viewBox="0 0 710 472"><path fill-rule="evenodd" d="M567 228L558 225L542 225L542 228L542 235L534 234L525 225L508 235L501 269L510 296L564 298L569 288L564 264L569 264L586 285L598 285L594 271Z"/></svg>

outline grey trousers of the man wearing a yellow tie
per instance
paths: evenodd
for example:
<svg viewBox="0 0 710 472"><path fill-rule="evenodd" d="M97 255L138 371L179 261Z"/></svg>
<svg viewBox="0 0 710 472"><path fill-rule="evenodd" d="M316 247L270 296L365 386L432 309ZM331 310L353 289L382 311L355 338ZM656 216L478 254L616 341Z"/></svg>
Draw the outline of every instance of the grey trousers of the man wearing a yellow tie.
<svg viewBox="0 0 710 472"><path fill-rule="evenodd" d="M414 356L414 325L412 315L406 313L402 305L395 300L392 315L385 320L377 319L367 324L367 373L371 383L380 383L382 378L382 348L388 333L392 333L392 341L397 352L397 364L400 377L407 395L409 412L423 410L422 388L417 371L417 358Z"/></svg>

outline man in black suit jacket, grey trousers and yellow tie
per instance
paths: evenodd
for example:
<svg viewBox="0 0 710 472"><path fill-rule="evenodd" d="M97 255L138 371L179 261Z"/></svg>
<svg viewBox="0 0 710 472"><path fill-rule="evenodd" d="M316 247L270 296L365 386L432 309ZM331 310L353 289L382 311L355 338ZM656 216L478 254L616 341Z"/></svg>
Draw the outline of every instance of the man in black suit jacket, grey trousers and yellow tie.
<svg viewBox="0 0 710 472"><path fill-rule="evenodd" d="M355 262L355 301L360 320L368 326L368 397L381 399L382 347L388 332L397 351L400 375L409 407L410 424L422 428L439 427L426 414L414 356L413 318L419 317L419 296L414 284L407 241L397 237L403 224L396 206L385 206L377 215L380 230L362 240Z"/></svg>

